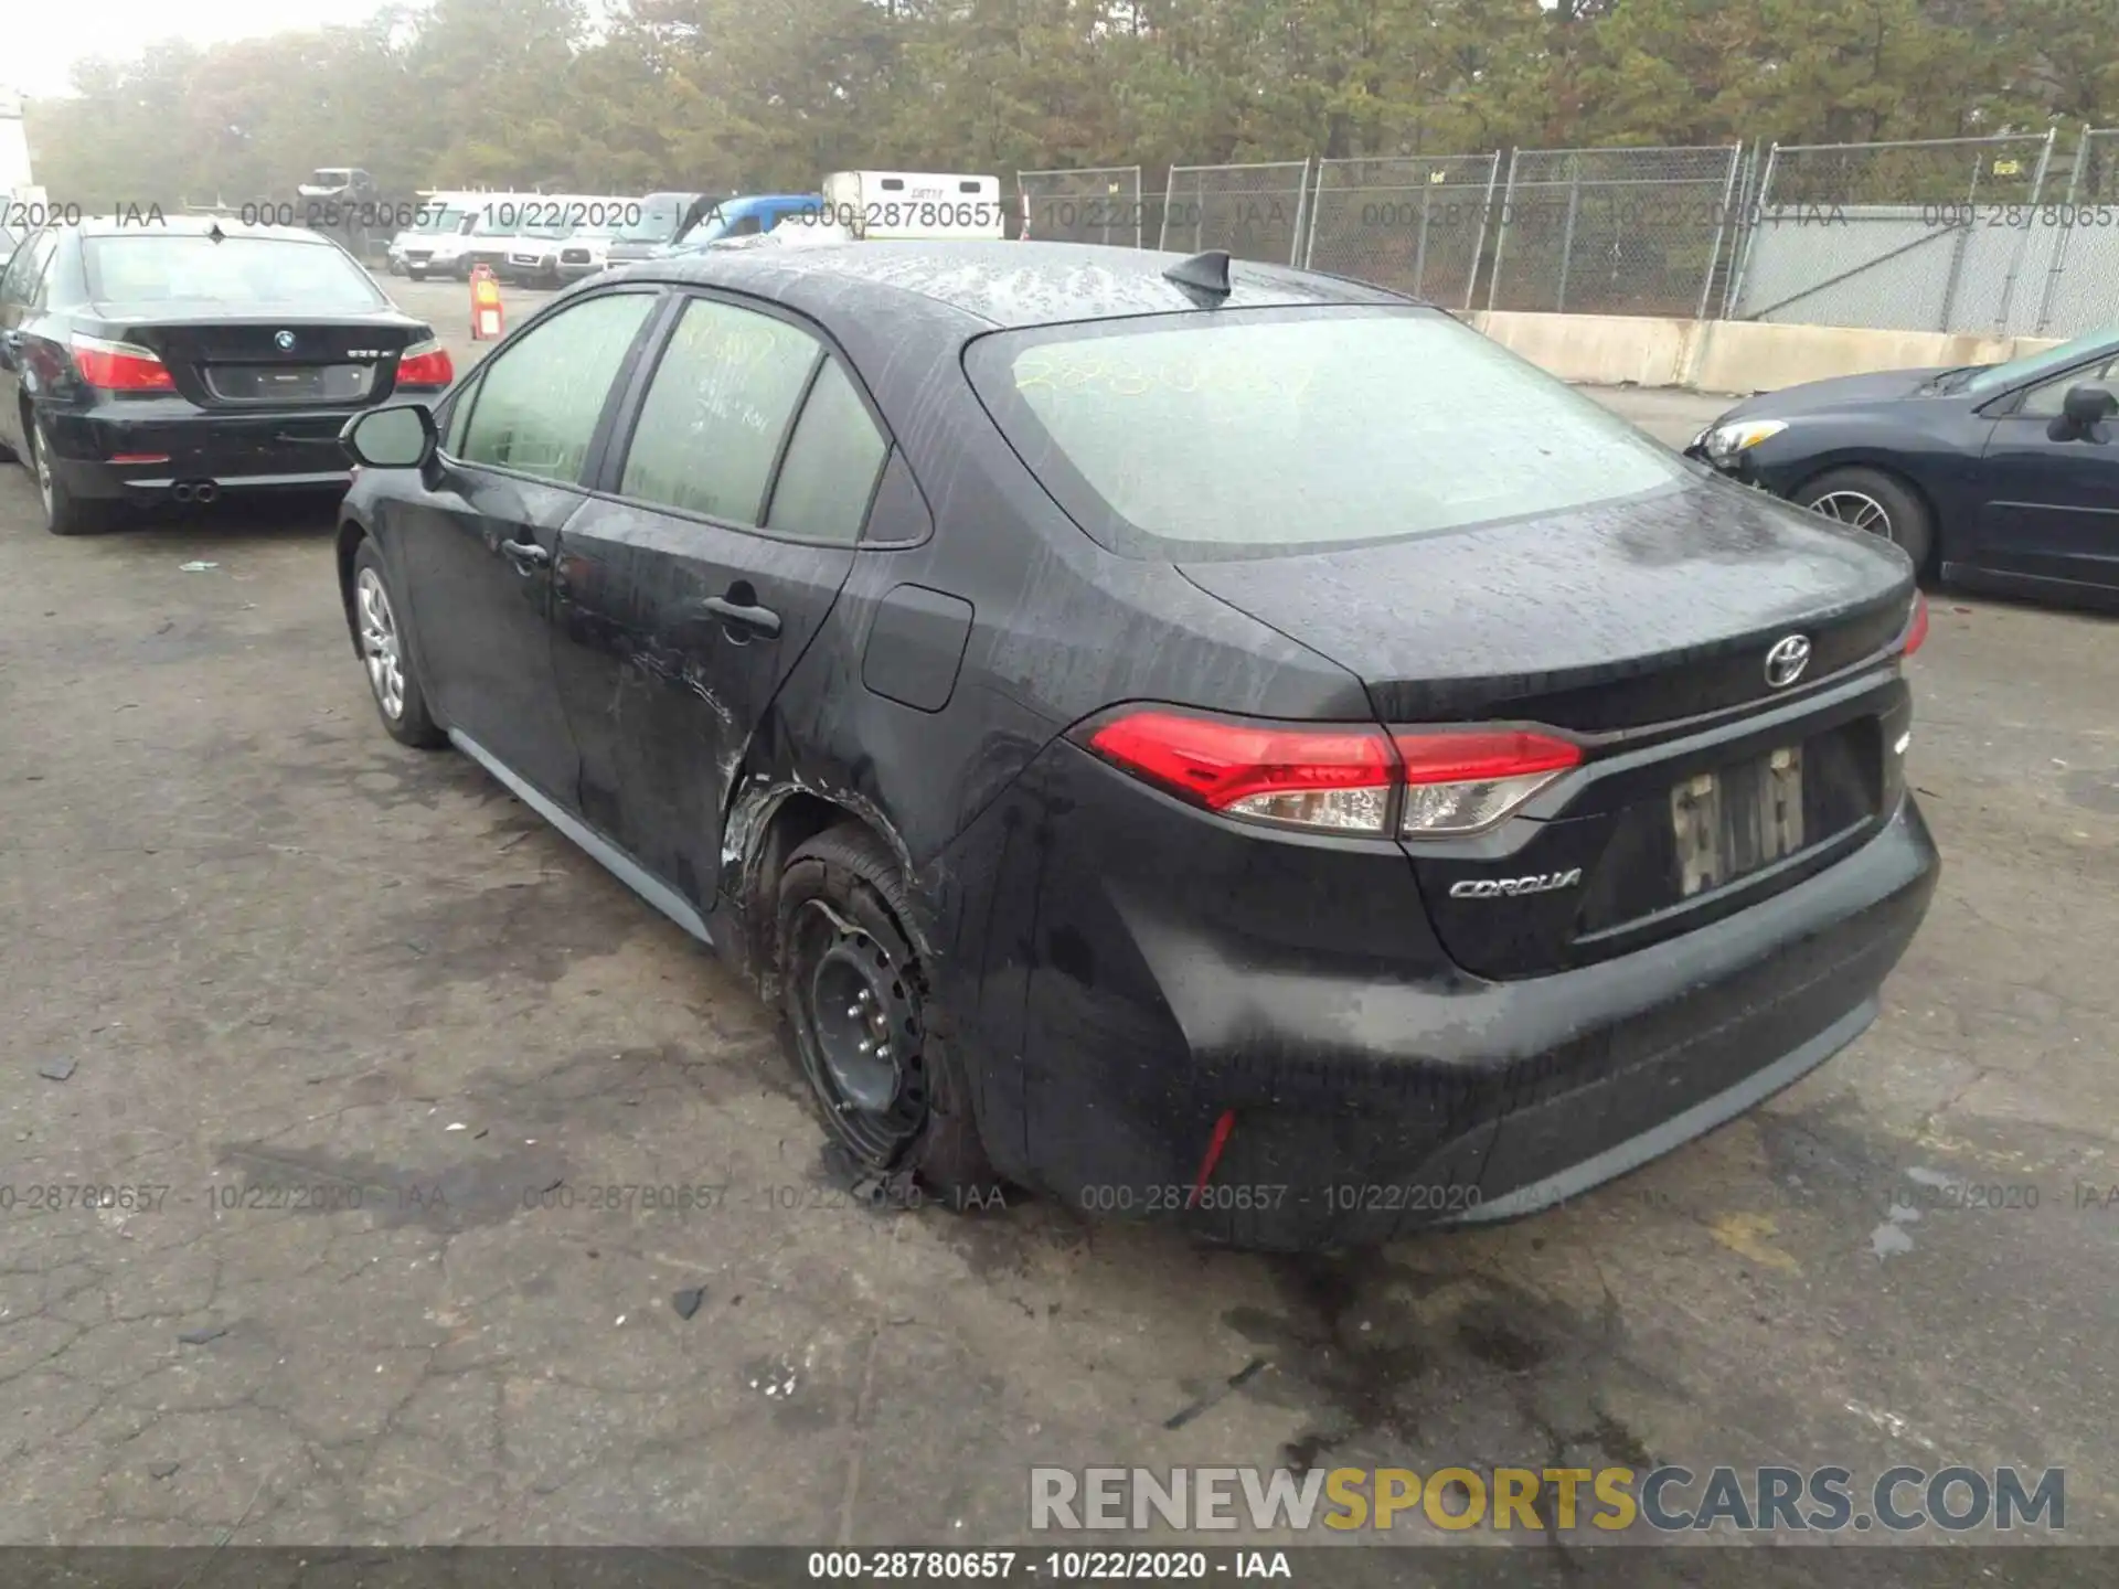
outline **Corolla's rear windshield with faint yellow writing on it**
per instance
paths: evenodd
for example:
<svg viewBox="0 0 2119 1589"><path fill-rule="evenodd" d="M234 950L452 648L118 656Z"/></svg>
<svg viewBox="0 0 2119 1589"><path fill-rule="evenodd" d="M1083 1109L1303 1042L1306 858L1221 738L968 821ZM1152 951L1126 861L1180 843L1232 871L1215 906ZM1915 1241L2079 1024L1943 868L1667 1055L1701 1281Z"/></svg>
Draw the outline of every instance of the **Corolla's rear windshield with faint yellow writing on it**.
<svg viewBox="0 0 2119 1589"><path fill-rule="evenodd" d="M1394 540L1687 479L1676 453L1435 309L1045 326L983 337L966 369L1060 506L1136 555Z"/></svg>

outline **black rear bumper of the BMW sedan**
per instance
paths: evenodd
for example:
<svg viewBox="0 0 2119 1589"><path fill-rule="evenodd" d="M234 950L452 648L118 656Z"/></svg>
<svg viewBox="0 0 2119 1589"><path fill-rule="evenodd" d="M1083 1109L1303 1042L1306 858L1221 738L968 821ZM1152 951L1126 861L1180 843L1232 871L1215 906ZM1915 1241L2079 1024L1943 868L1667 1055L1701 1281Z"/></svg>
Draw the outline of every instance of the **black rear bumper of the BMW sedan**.
<svg viewBox="0 0 2119 1589"><path fill-rule="evenodd" d="M182 400L150 400L47 409L40 417L51 436L53 472L68 492L106 502L155 502L176 485L201 481L222 492L343 492L352 466L339 432L358 411L222 415Z"/></svg>

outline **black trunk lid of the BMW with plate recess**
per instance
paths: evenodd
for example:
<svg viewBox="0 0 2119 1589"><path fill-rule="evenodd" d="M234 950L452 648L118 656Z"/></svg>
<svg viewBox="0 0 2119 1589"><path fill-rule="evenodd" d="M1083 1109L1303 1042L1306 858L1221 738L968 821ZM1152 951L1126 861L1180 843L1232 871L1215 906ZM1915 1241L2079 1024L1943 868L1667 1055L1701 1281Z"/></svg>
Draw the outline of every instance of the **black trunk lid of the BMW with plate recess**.
<svg viewBox="0 0 2119 1589"><path fill-rule="evenodd" d="M434 335L403 316L231 314L225 303L102 303L95 314L95 335L153 352L201 409L381 403L398 356Z"/></svg>

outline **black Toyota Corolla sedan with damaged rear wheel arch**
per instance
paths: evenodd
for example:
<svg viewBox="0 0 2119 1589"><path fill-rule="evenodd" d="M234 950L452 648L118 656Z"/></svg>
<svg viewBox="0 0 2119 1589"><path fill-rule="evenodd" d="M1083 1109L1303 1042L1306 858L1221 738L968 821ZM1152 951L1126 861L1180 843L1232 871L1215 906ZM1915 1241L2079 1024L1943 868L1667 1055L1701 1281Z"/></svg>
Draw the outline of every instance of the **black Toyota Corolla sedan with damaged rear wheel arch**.
<svg viewBox="0 0 2119 1589"><path fill-rule="evenodd" d="M748 968L873 1184L1549 1208L1852 1042L1935 886L1907 557L1379 288L704 252L348 447L384 727Z"/></svg>

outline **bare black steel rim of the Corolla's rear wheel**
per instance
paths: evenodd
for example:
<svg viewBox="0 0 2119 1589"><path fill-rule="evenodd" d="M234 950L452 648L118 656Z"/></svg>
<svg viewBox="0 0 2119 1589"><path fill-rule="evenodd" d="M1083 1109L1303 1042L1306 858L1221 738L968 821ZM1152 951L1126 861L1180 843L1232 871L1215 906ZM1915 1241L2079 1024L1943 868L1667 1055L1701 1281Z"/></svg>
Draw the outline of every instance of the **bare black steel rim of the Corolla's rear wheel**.
<svg viewBox="0 0 2119 1589"><path fill-rule="evenodd" d="M805 900L788 945L795 1047L833 1133L867 1167L888 1170L928 1114L920 996L871 932Z"/></svg>

